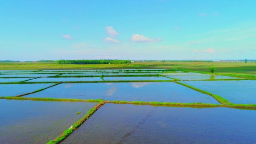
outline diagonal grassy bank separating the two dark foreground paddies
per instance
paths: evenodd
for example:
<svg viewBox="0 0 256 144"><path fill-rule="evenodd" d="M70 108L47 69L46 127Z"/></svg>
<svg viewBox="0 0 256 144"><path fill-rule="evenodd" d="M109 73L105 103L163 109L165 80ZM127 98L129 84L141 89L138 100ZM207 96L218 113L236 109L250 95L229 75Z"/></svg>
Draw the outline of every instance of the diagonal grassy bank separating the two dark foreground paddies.
<svg viewBox="0 0 256 144"><path fill-rule="evenodd" d="M91 110L89 110L85 116L83 116L81 119L77 120L76 123L74 123L69 129L66 129L60 136L55 138L54 140L49 141L46 144L59 144L61 141L63 141L68 135L72 134L72 132L79 128L80 125L82 125L86 120L89 119L92 114L95 113L102 105L104 105L105 102L100 102L99 104L95 105Z"/></svg>

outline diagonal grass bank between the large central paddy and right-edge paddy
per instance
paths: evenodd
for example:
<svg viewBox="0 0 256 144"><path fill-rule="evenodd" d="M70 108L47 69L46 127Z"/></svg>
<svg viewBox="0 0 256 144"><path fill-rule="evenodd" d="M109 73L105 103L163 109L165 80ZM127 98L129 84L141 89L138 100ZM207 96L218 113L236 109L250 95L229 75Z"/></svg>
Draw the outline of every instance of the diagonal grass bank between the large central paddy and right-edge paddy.
<svg viewBox="0 0 256 144"><path fill-rule="evenodd" d="M210 95L210 96L212 96L213 98L215 98L218 102L220 102L221 104L231 104L231 102L229 102L229 101L228 101L227 99L225 99L225 98L222 98L222 97L219 96L219 95L214 95L214 94L212 94L212 93L210 93L210 92L207 92L207 91L204 91L204 90L195 88L195 87L190 86L190 85L186 85L186 84L181 83L181 82L176 82L176 83L178 83L178 84L180 84L180 85L183 85L183 86L186 86L186 87L188 87L188 88L191 88L191 89L193 89L193 90L195 90L195 91L198 91L198 92L201 92L201 93Z"/></svg>

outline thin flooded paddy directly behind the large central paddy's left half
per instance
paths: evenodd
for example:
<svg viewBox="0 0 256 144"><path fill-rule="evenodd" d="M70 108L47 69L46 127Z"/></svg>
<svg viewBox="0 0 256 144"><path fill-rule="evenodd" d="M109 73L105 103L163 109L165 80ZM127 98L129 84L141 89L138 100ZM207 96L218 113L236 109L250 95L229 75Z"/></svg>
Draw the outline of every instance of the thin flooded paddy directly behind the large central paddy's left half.
<svg viewBox="0 0 256 144"><path fill-rule="evenodd" d="M27 82L71 82L71 81L102 81L100 77L41 77Z"/></svg>

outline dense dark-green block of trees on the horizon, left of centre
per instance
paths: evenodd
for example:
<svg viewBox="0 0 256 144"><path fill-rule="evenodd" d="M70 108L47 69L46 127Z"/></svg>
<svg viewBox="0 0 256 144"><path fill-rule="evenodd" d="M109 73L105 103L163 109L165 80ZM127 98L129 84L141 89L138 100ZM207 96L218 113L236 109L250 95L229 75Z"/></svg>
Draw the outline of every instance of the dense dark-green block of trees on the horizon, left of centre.
<svg viewBox="0 0 256 144"><path fill-rule="evenodd" d="M82 60L58 60L56 64L129 64L130 60L117 59L82 59Z"/></svg>

